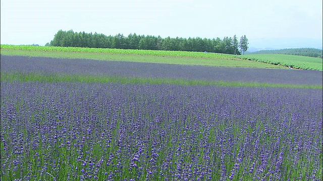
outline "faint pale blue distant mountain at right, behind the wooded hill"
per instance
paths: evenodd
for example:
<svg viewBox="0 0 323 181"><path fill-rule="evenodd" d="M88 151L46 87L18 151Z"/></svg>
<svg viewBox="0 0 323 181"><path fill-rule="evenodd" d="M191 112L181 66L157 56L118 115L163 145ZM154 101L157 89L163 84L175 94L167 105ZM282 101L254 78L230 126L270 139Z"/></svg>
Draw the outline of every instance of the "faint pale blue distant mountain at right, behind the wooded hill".
<svg viewBox="0 0 323 181"><path fill-rule="evenodd" d="M323 49L322 39L313 38L249 38L248 52L290 48ZM247 53L247 52L246 52Z"/></svg>

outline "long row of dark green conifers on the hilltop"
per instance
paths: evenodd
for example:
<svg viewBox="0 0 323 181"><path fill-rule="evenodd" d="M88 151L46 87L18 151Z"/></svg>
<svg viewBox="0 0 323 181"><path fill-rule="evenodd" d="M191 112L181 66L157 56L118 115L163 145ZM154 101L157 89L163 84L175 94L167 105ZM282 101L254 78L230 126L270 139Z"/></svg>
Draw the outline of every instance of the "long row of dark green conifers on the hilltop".
<svg viewBox="0 0 323 181"><path fill-rule="evenodd" d="M98 33L74 32L73 30L60 30L46 46L69 46L91 48L121 48L121 49L144 49L144 50L180 50L214 52L240 55L248 49L248 39L242 36L240 42L236 35L206 39L206 38L161 38L160 36L117 34L106 36ZM239 51L240 50L240 51Z"/></svg>

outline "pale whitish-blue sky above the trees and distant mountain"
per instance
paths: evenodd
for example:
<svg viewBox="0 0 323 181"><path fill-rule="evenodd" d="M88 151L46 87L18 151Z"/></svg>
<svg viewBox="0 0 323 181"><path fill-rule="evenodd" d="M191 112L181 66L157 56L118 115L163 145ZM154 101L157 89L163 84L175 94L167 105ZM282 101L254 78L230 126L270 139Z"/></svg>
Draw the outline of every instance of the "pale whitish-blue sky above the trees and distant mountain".
<svg viewBox="0 0 323 181"><path fill-rule="evenodd" d="M322 0L1 0L1 44L50 42L59 30L161 37L322 39Z"/></svg>

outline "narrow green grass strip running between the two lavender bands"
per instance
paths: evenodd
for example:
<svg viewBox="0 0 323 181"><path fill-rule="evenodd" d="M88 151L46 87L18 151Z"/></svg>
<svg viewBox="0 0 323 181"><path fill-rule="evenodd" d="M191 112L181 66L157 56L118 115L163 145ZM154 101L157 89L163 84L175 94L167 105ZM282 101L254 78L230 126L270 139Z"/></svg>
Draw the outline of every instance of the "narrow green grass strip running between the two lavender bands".
<svg viewBox="0 0 323 181"><path fill-rule="evenodd" d="M120 77L88 74L59 74L39 72L1 72L1 82L85 82L85 83L133 83L133 84L176 84L176 85L216 85L216 86L244 86L244 87L282 87L282 88L320 88L322 85L296 85L263 82L238 82L238 81L211 81L211 80L188 80L173 78L149 78L149 77Z"/></svg>

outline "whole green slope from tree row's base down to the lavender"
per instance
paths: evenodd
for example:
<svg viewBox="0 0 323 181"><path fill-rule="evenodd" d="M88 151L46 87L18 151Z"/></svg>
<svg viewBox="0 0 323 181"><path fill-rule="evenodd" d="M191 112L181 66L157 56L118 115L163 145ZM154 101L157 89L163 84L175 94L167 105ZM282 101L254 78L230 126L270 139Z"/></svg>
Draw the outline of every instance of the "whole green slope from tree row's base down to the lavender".
<svg viewBox="0 0 323 181"><path fill-rule="evenodd" d="M250 60L243 60L235 58L234 55L202 53L202 52L186 52L187 56L182 51L158 51L158 50L127 50L123 49L106 49L116 50L117 53L101 53L94 48L79 48L80 50L88 50L88 52L74 52L68 51L67 48L74 47L59 47L66 48L64 51L47 51L39 48L35 50L27 49L33 46L26 46L26 49L20 50L19 46L6 47L1 45L2 55L20 55L20 56L35 56L35 57L52 57L52 58L77 58L77 59L93 59L93 60L116 60L116 61L132 61L132 62L148 62L148 63L168 63L168 64L182 64L182 65L204 65L204 66L227 66L227 67L257 67L257 68L286 68L279 65L272 65L268 63L255 62ZM37 46L35 46L37 47ZM6 49L3 49L6 48ZM8 49L12 48L12 49ZM23 47L21 47L23 48ZM44 47L43 47L44 48ZM51 47L52 48L52 47ZM60 50L60 49L58 49ZM90 50L93 52L90 52ZM97 52L94 52L96 50ZM105 49L104 49L105 50ZM153 55L145 54L146 51L156 52ZM170 53L163 55L163 53ZM140 54L142 53L142 54ZM176 54L178 53L178 54ZM188 56L192 53L190 56ZM177 56L176 56L177 55ZM208 57L209 56L209 57Z"/></svg>

